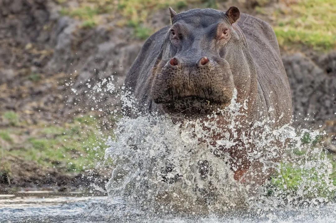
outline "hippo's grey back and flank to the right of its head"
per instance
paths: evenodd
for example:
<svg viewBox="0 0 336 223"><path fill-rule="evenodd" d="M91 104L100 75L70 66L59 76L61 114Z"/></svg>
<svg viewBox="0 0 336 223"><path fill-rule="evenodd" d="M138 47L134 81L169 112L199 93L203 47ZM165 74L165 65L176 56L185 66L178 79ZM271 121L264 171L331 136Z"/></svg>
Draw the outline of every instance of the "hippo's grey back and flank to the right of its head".
<svg viewBox="0 0 336 223"><path fill-rule="evenodd" d="M265 21L244 13L241 14L238 25L247 39L257 68L257 87L261 100L259 104L266 105L259 109L270 118L278 119L281 116L279 124L288 123L292 118L290 86L272 27Z"/></svg>

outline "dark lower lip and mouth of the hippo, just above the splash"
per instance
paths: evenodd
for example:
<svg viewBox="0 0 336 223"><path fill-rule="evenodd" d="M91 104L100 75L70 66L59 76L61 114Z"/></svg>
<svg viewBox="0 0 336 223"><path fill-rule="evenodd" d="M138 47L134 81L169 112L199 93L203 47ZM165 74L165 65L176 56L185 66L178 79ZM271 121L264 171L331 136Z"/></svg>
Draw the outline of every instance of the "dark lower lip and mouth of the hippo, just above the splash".
<svg viewBox="0 0 336 223"><path fill-rule="evenodd" d="M163 111L177 117L200 117L223 109L227 103L218 103L199 97L183 97L175 101L160 103Z"/></svg>

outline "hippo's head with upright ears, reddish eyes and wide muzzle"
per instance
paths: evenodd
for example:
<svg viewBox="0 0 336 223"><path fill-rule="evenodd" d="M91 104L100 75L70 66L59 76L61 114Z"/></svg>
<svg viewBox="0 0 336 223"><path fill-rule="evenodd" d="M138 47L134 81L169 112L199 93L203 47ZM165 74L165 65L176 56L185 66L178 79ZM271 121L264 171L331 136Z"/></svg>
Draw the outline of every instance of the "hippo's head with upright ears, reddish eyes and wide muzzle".
<svg viewBox="0 0 336 223"><path fill-rule="evenodd" d="M244 75L247 42L235 23L239 9L178 14L169 9L172 26L153 67L152 100L172 115L205 115L223 108L235 84L249 79L249 72Z"/></svg>

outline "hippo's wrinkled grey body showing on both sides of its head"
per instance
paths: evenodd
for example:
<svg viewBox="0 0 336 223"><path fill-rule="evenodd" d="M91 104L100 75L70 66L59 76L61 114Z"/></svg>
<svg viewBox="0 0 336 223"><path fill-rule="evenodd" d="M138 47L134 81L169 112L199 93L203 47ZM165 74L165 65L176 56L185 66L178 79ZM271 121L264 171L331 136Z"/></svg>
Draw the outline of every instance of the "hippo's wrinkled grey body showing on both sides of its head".
<svg viewBox="0 0 336 223"><path fill-rule="evenodd" d="M246 37L256 67L253 94L257 102L253 108L249 108L250 113L257 118L256 111L262 111L262 116L271 119L279 118L284 113L277 124L288 123L292 117L290 87L274 31L265 21L244 13L237 24ZM159 104L151 98L150 84L153 66L169 29L170 26L166 26L146 40L126 75L125 85L131 88L144 111L162 112ZM237 85L239 83L235 83ZM268 112L270 107L274 107L272 112Z"/></svg>

